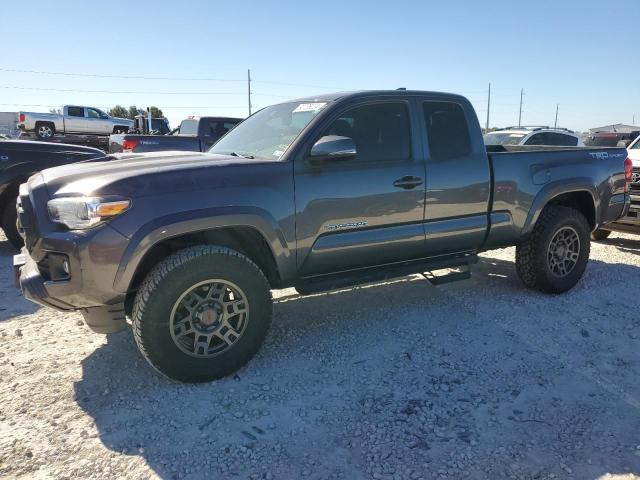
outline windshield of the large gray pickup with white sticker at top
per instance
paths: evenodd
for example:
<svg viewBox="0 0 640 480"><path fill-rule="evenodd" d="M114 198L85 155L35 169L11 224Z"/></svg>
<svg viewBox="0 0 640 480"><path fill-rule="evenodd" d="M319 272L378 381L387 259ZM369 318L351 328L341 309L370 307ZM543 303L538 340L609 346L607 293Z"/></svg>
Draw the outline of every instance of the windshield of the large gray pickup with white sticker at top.
<svg viewBox="0 0 640 480"><path fill-rule="evenodd" d="M325 106L325 102L292 102L264 108L231 130L209 152L278 160Z"/></svg>

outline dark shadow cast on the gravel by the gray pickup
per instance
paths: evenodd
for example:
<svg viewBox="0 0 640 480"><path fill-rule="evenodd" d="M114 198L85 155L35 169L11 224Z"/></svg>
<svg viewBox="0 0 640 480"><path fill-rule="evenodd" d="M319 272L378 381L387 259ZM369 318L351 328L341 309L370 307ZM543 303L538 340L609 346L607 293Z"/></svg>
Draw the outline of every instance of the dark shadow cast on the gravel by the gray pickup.
<svg viewBox="0 0 640 480"><path fill-rule="evenodd" d="M162 478L264 474L251 455L270 457L275 478L301 478L310 458L313 478L369 478L377 457L351 440L374 438L376 424L395 432L385 462L428 463L425 477L454 451L471 452L460 460L469 478L562 478L563 462L577 478L639 472L633 340L600 311L581 330L571 311L619 301L615 288L593 298L610 269L621 282L640 274L592 261L583 285L545 296L523 289L512 262L484 258L468 283L411 277L286 297L256 358L209 384L155 375L122 332L82 361L75 399L108 449L142 456ZM520 307L536 320L511 315Z"/></svg>

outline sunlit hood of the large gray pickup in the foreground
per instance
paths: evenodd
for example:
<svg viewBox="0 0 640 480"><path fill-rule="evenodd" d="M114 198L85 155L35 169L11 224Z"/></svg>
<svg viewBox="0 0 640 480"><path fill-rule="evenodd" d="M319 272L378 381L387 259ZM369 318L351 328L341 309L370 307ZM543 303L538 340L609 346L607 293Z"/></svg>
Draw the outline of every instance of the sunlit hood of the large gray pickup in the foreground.
<svg viewBox="0 0 640 480"><path fill-rule="evenodd" d="M268 160L200 152L115 154L104 162L49 168L42 176L51 197L120 195L128 198L212 188L231 170Z"/></svg>

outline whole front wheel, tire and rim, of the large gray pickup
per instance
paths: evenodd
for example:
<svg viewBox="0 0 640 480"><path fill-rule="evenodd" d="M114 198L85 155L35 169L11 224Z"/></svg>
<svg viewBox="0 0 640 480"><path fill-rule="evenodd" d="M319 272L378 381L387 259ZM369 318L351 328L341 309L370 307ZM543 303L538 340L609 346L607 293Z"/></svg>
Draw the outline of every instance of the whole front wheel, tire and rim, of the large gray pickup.
<svg viewBox="0 0 640 480"><path fill-rule="evenodd" d="M202 245L174 253L148 274L135 298L133 332L158 372L208 382L255 355L271 314L262 271L234 250Z"/></svg>

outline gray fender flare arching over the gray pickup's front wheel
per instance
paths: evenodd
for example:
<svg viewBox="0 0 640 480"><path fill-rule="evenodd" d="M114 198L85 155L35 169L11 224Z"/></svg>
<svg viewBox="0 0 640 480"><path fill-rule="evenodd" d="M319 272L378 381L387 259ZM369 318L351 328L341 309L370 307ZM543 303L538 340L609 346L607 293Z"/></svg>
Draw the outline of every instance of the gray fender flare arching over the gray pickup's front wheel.
<svg viewBox="0 0 640 480"><path fill-rule="evenodd" d="M122 293L128 291L140 262L154 245L189 233L228 227L250 227L258 231L271 249L281 278L295 274L295 255L273 217L256 207L216 207L177 212L143 225L129 239L118 266L114 289Z"/></svg>

